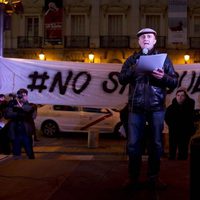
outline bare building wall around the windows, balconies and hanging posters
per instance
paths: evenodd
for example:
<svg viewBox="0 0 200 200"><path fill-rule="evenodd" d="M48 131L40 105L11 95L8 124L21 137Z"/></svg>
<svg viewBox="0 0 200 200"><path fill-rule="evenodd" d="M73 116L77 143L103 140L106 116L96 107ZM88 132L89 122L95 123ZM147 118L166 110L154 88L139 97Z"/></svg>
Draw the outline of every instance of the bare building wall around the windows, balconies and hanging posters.
<svg viewBox="0 0 200 200"><path fill-rule="evenodd" d="M39 35L44 38L44 6L45 1L23 0L24 12L13 13L11 29L5 31L4 55L6 57L22 57L37 59L40 48L18 49L18 37L26 36L26 17L39 18ZM43 45L47 60L77 60L88 62L88 54L93 52L95 62L124 62L133 52L138 50L137 31L145 27L148 17L160 16L159 36L168 37L168 0L63 0L63 37L71 35L71 15L86 16L85 35L90 37L88 48L64 48L64 45ZM108 35L108 16L123 15L122 35L130 38L129 48L100 48L100 36ZM183 55L191 56L190 62L200 60L198 49L190 49L189 38L199 37L194 32L194 16L200 16L200 0L188 0L187 7L187 43L166 44L165 49L175 64L184 63ZM166 40L168 41L168 40ZM200 48L199 48L200 49ZM33 53L34 52L34 53Z"/></svg>

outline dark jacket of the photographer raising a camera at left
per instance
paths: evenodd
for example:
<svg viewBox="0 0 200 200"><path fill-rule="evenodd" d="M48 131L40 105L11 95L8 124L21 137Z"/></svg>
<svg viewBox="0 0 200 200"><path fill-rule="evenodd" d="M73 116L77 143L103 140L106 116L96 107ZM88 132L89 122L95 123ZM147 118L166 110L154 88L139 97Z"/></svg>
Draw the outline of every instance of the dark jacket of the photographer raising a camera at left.
<svg viewBox="0 0 200 200"><path fill-rule="evenodd" d="M25 132L27 135L32 136L34 134L33 127L33 106L27 101L24 105L19 108L16 106L16 100L11 100L5 110L5 118L9 120L7 123L8 136L10 139L14 139L17 132L17 126L23 123Z"/></svg>

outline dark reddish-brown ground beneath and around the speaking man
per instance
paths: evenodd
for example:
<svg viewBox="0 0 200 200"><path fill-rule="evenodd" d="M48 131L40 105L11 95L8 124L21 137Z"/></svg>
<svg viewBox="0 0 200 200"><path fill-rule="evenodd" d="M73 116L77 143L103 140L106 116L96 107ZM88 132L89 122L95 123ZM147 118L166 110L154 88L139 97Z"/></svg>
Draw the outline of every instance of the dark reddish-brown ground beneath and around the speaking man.
<svg viewBox="0 0 200 200"><path fill-rule="evenodd" d="M0 155L0 200L189 200L189 159L162 158L164 191L125 190L128 178L125 140L100 139L88 148L87 138L39 138L36 159ZM141 179L146 178L143 156Z"/></svg>

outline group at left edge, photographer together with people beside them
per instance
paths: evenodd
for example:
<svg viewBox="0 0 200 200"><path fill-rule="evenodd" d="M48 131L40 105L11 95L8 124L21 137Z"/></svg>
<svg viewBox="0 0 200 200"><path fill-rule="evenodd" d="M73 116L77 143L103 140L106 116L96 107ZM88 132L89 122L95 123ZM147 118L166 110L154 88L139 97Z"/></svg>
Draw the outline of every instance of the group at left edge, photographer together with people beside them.
<svg viewBox="0 0 200 200"><path fill-rule="evenodd" d="M34 159L33 141L38 141L34 119L37 106L29 103L28 90L21 88L15 95L0 94L0 153L21 158L22 148Z"/></svg>

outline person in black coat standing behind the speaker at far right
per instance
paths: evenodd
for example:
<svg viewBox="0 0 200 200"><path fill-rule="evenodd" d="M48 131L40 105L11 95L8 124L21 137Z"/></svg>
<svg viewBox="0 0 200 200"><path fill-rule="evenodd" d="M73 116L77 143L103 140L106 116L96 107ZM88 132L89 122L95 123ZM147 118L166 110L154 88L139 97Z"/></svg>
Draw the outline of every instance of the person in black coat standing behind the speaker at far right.
<svg viewBox="0 0 200 200"><path fill-rule="evenodd" d="M176 91L176 97L167 107L165 121L169 128L169 159L188 158L188 146L191 136L195 133L194 126L195 101L190 98L185 88Z"/></svg>

